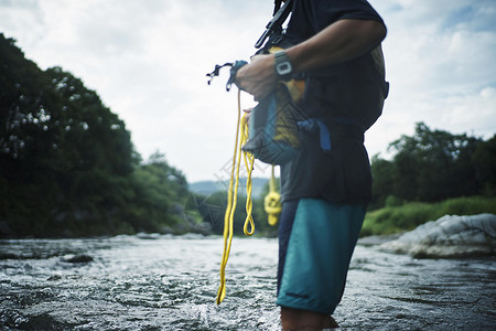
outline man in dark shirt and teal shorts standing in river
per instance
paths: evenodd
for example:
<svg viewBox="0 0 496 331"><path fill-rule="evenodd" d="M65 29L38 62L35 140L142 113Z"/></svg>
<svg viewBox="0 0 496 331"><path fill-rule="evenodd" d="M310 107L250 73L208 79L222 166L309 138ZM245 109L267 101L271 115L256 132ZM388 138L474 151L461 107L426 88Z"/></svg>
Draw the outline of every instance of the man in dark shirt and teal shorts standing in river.
<svg viewBox="0 0 496 331"><path fill-rule="evenodd" d="M349 260L370 199L364 132L381 113L388 86L380 65L386 36L366 0L294 0L283 53L256 55L236 84L260 100L282 78L276 65L304 74L300 107L328 128L303 132L299 156L281 166L278 300L283 330L336 328ZM289 63L289 65L288 65ZM377 64L379 63L379 65Z"/></svg>

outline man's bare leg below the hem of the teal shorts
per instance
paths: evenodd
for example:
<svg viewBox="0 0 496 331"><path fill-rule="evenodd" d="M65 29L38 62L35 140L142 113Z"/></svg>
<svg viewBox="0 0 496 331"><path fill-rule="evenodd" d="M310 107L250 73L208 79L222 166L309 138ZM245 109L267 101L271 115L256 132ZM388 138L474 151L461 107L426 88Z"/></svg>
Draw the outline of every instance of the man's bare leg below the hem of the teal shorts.
<svg viewBox="0 0 496 331"><path fill-rule="evenodd" d="M281 307L282 330L313 331L339 328L333 317L301 309Z"/></svg>

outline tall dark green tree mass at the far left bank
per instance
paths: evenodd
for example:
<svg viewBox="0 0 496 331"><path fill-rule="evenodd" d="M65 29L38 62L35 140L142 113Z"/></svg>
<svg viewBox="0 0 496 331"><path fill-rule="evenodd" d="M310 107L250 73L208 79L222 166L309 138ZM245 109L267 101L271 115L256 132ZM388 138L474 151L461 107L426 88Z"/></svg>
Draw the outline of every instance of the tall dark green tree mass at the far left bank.
<svg viewBox="0 0 496 331"><path fill-rule="evenodd" d="M130 134L60 67L41 71L0 34L0 222L11 235L128 232Z"/></svg>

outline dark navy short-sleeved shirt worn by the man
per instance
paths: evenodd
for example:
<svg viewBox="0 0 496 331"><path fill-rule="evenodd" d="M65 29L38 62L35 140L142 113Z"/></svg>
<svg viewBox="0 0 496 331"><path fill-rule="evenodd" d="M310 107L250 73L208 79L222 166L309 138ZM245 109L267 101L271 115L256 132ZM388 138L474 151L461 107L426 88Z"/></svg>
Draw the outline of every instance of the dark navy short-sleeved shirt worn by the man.
<svg viewBox="0 0 496 331"><path fill-rule="evenodd" d="M344 19L375 20L365 0L294 0L284 42L298 44ZM281 166L282 200L319 197L366 203L371 195L370 164L364 132L380 116L385 94L381 50L305 73L300 103L308 118L319 118L331 131L332 149L324 152L319 134L302 132L298 157Z"/></svg>

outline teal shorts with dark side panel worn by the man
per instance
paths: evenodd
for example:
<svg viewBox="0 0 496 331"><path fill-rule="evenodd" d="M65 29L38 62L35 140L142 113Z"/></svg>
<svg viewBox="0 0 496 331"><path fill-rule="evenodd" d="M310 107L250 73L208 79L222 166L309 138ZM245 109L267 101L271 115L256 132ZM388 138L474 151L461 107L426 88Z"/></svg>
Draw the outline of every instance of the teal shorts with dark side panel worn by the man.
<svg viewBox="0 0 496 331"><path fill-rule="evenodd" d="M317 199L284 202L279 225L279 306L334 312L364 217L364 205Z"/></svg>

